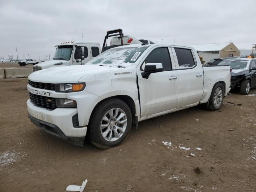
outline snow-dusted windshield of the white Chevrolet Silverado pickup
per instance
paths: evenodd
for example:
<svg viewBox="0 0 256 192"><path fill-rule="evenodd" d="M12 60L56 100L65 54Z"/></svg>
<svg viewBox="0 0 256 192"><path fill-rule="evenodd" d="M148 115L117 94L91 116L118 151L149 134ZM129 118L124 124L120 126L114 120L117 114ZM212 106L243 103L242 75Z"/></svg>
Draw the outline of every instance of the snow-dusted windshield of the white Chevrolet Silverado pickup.
<svg viewBox="0 0 256 192"><path fill-rule="evenodd" d="M90 63L100 64L102 66L126 68L132 66L147 48L148 46L109 49L91 60Z"/></svg>

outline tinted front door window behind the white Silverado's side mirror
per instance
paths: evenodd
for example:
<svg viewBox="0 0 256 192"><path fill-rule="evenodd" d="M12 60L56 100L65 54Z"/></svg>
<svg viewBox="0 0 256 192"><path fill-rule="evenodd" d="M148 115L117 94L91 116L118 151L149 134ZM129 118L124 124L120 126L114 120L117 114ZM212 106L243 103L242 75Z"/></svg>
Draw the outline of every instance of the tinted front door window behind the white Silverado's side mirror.
<svg viewBox="0 0 256 192"><path fill-rule="evenodd" d="M163 71L172 70L172 63L170 59L170 54L168 48L156 48L153 50L146 58L145 62L141 66L141 69L144 70L146 63L162 63Z"/></svg>

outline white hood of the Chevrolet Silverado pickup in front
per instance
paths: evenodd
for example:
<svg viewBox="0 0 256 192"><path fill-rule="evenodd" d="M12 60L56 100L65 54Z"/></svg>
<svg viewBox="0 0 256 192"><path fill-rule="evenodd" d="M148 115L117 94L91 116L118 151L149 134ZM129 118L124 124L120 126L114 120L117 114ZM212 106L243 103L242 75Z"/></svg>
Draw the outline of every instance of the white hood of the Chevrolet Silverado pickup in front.
<svg viewBox="0 0 256 192"><path fill-rule="evenodd" d="M33 72L28 79L44 83L78 83L80 78L89 74L98 74L117 68L99 65L74 65L65 67L48 68Z"/></svg>

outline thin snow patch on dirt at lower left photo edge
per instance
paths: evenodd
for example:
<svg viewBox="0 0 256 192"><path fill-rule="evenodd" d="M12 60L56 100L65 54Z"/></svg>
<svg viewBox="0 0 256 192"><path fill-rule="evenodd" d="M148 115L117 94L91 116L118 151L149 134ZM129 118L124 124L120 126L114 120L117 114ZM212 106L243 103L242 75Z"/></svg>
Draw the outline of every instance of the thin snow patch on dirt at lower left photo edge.
<svg viewBox="0 0 256 192"><path fill-rule="evenodd" d="M19 162L24 154L16 151L6 151L0 156L0 166L8 166L14 162Z"/></svg>

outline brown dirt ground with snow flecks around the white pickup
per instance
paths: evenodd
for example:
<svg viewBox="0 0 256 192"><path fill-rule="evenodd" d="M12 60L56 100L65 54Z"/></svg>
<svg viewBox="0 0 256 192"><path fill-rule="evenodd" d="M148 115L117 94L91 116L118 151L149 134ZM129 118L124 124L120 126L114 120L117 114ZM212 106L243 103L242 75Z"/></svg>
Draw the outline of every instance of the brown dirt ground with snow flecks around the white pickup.
<svg viewBox="0 0 256 192"><path fill-rule="evenodd" d="M142 121L122 145L100 150L32 124L26 84L0 80L1 192L64 192L85 179L86 192L256 191L256 90L232 93L219 111L197 106Z"/></svg>

